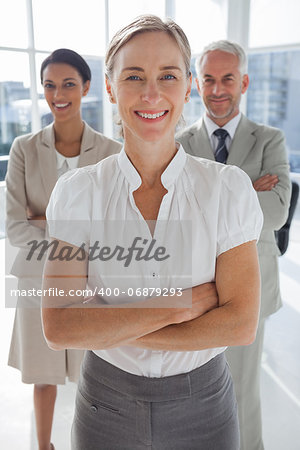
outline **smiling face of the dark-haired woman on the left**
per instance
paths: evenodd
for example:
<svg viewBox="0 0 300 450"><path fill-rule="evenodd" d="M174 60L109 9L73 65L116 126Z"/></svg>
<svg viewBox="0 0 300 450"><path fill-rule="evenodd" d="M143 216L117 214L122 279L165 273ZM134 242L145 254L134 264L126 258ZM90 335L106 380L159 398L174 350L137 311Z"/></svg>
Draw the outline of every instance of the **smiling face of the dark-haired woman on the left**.
<svg viewBox="0 0 300 450"><path fill-rule="evenodd" d="M49 64L43 73L45 99L55 121L80 117L81 98L88 93L90 82L83 83L78 71L69 64Z"/></svg>

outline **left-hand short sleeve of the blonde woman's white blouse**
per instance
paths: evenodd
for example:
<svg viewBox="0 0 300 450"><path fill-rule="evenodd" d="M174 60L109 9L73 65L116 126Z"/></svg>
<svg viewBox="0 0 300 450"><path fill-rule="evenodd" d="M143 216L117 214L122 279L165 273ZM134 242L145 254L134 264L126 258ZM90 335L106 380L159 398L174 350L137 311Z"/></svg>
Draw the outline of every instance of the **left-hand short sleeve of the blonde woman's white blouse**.
<svg viewBox="0 0 300 450"><path fill-rule="evenodd" d="M49 236L77 247L90 239L92 184L84 169L59 178L46 210Z"/></svg>

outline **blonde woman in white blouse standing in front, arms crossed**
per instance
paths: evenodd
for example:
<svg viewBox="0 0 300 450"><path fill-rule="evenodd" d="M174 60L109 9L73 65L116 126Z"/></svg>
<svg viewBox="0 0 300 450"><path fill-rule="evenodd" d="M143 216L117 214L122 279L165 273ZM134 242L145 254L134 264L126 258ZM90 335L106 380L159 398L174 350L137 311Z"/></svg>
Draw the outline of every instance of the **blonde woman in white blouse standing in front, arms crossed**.
<svg viewBox="0 0 300 450"><path fill-rule="evenodd" d="M44 297L50 347L91 350L78 387L73 450L239 448L224 349L247 345L255 337L256 240L262 215L241 170L193 158L175 142L191 92L190 56L182 29L156 16L141 16L113 37L106 55L106 86L118 107L124 147L118 156L66 175L47 209L50 236L60 255L70 245L77 254L91 248L96 231L102 238L109 236L108 223L114 221L119 239L124 223L140 226L147 236L136 238L128 254L119 245L102 248L98 259L86 251L85 260L52 258L46 263L45 291L59 282L66 292L76 287L80 293L87 277L91 288L102 286L92 300L94 306L104 305L99 308L85 308L89 300L80 294L62 301L46 291ZM78 224L68 234L64 218L68 223L84 218L89 228ZM190 247L186 220L192 223ZM175 234L174 221L179 228ZM101 230L93 227L96 222ZM157 248L156 260L146 261L142 244L158 242L161 232L166 248ZM174 267L182 273L191 258L189 286L183 285L180 272L174 276L168 262L163 265L173 249L178 251ZM108 273L105 255L122 264L129 254L135 261L126 270L135 277L118 277L127 273L119 266ZM58 277L62 273L63 280ZM153 286L160 287L160 296L151 296L156 293ZM172 289L178 292L174 302ZM184 302L188 293L190 306Z"/></svg>

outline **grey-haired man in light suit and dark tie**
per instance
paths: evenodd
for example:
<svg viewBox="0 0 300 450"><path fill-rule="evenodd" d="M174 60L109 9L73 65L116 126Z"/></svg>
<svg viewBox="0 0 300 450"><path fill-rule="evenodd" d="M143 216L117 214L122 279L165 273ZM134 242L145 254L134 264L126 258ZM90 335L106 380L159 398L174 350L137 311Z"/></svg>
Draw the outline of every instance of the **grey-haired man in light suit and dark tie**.
<svg viewBox="0 0 300 450"><path fill-rule="evenodd" d="M289 165L284 136L259 125L240 112L247 91L247 58L236 43L208 45L196 61L197 89L206 113L180 132L177 139L187 153L243 169L251 178L264 214L258 242L261 270L261 311L253 344L227 349L227 359L239 408L241 450L262 450L260 363L264 324L281 306L274 230L285 223L290 201Z"/></svg>

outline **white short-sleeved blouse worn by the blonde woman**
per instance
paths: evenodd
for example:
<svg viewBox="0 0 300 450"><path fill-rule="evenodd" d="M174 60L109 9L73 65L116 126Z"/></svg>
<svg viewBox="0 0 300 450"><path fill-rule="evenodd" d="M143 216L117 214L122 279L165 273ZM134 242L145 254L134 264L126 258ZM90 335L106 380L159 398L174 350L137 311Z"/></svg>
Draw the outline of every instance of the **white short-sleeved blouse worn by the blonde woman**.
<svg viewBox="0 0 300 450"><path fill-rule="evenodd" d="M168 192L153 236L135 205L133 192L141 178L124 149L66 173L52 192L46 211L50 236L85 250L95 249L97 243L97 252L90 253L88 288L101 295L102 303L134 305L151 294L162 295L163 289L173 288L179 295L181 289L213 281L221 253L259 238L263 215L250 178L238 167L187 155L180 146L161 181ZM135 250L129 261L126 252L135 238L135 247L144 248L144 254L153 241L148 256L159 247L161 253L145 260ZM105 258L116 247L111 258ZM224 350L120 346L94 352L132 374L164 377L189 372Z"/></svg>

